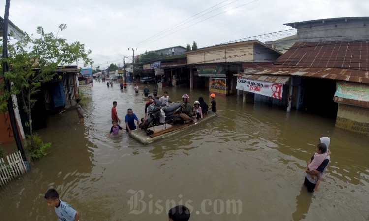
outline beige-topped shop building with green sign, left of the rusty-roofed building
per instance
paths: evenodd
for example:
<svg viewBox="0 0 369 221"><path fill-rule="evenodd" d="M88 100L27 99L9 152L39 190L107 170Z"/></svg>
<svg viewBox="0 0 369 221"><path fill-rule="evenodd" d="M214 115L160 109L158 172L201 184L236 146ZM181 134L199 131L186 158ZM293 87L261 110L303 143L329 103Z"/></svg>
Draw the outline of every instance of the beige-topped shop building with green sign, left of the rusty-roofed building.
<svg viewBox="0 0 369 221"><path fill-rule="evenodd" d="M190 87L209 87L221 96L236 92L234 74L244 68L271 65L281 53L257 40L220 44L186 52Z"/></svg>

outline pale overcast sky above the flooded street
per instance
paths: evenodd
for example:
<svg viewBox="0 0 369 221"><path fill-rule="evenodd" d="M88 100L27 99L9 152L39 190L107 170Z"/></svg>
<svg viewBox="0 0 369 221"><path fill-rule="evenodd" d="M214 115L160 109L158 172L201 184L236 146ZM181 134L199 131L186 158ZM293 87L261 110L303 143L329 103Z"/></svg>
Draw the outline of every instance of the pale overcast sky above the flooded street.
<svg viewBox="0 0 369 221"><path fill-rule="evenodd" d="M0 9L4 17L5 0ZM123 65L124 56L132 57L128 48L137 48L135 55L193 41L202 48L292 29L283 23L368 16L368 11L369 0L12 0L9 19L28 34L37 26L56 33L59 24L67 24L58 37L84 43L92 50L93 67L103 68L107 62Z"/></svg>

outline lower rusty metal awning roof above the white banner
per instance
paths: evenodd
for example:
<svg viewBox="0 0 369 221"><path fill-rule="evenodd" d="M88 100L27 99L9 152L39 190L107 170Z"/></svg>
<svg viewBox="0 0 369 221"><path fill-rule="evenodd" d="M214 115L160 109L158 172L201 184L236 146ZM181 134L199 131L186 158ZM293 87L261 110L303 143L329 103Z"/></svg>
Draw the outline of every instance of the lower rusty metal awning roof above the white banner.
<svg viewBox="0 0 369 221"><path fill-rule="evenodd" d="M324 78L348 82L368 83L369 71L342 68L296 67L287 65L272 65L269 67L248 68L237 76L244 75L290 75L311 78Z"/></svg>

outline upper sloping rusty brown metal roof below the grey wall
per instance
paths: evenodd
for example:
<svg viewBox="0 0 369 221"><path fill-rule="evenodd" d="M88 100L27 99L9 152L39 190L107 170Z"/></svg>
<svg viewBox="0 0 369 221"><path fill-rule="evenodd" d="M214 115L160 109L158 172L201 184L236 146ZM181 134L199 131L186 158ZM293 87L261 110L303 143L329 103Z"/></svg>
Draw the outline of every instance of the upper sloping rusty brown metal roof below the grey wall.
<svg viewBox="0 0 369 221"><path fill-rule="evenodd" d="M369 41L296 42L275 64L369 71Z"/></svg>

